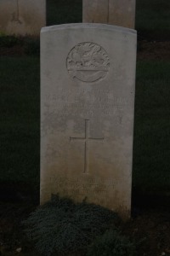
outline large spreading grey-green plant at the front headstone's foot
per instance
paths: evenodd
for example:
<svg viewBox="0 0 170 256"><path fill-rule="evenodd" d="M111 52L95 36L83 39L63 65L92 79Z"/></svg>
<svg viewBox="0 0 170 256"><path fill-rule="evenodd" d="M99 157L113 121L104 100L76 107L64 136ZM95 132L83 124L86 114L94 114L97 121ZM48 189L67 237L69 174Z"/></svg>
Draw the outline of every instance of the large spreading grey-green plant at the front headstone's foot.
<svg viewBox="0 0 170 256"><path fill-rule="evenodd" d="M68 255L85 248L109 228L116 229L117 214L104 207L75 204L71 199L53 195L25 221L27 237L45 256Z"/></svg>

